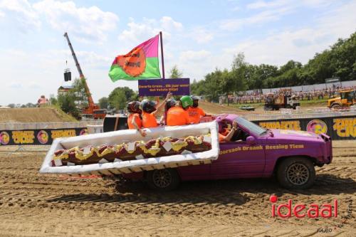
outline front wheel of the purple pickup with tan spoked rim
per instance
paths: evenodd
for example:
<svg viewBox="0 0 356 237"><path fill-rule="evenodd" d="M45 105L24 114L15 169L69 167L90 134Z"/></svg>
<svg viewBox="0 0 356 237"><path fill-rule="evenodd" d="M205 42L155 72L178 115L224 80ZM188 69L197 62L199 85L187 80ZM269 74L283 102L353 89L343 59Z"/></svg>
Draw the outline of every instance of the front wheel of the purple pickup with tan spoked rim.
<svg viewBox="0 0 356 237"><path fill-rule="evenodd" d="M277 167L277 179L286 189L308 189L315 181L313 162L305 157L284 159Z"/></svg>

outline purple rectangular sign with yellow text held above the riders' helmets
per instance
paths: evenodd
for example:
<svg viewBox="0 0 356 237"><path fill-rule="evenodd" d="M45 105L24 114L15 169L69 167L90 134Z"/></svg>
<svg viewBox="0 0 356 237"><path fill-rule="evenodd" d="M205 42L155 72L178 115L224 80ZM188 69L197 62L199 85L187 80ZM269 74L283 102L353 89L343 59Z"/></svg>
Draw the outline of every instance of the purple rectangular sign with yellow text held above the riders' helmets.
<svg viewBox="0 0 356 237"><path fill-rule="evenodd" d="M190 95L189 78L139 80L138 94L140 96Z"/></svg>

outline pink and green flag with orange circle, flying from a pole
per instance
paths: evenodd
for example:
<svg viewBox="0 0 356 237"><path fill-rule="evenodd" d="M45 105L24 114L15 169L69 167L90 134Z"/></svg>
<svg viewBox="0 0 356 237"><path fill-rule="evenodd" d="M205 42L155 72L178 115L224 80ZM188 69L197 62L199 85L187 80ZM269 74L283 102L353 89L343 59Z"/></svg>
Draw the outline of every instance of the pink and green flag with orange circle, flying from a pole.
<svg viewBox="0 0 356 237"><path fill-rule="evenodd" d="M158 66L159 35L136 46L130 53L119 55L112 62L109 76L116 80L161 78Z"/></svg>

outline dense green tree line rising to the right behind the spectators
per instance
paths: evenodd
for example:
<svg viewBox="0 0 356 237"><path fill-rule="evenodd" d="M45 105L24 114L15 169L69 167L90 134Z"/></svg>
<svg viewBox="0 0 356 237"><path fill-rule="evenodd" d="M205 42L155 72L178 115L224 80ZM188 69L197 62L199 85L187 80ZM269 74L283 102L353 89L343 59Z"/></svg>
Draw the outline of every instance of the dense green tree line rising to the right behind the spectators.
<svg viewBox="0 0 356 237"><path fill-rule="evenodd" d="M325 83L326 78L333 77L342 81L356 80L356 32L350 38L338 39L322 53L316 53L305 65L295 60L281 67L252 65L245 61L244 53L239 53L230 70L216 68L206 74L204 80L194 80L191 92L205 95L208 100L218 100L219 95L233 92Z"/></svg>

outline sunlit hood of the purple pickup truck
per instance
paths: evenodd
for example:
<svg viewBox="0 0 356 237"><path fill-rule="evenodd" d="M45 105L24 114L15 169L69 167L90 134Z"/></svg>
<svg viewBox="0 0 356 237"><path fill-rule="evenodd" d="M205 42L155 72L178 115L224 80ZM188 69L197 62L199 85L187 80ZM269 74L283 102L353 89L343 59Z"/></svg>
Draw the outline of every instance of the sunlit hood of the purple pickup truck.
<svg viewBox="0 0 356 237"><path fill-rule="evenodd" d="M273 132L273 139L278 140L300 140L303 142L314 141L323 142L323 138L314 132L295 131L295 130L271 130Z"/></svg>

